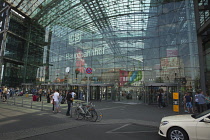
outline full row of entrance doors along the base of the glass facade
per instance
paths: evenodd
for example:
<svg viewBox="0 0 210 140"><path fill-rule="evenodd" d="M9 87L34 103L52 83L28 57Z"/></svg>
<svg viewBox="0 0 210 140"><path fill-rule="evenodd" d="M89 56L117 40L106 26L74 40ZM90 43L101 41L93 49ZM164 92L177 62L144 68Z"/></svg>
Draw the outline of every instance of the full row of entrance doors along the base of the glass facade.
<svg viewBox="0 0 210 140"><path fill-rule="evenodd" d="M178 89L178 85L175 83L146 83L144 86L118 88L114 84L90 84L89 87L89 100L146 104L157 104L157 96L162 90L164 102L167 105L173 103L173 92L177 92ZM34 86L32 84L22 84L22 88L29 91ZM77 95L75 99L87 99L87 84L41 84L35 88L44 90L59 89L62 94L65 94L68 90L73 90Z"/></svg>

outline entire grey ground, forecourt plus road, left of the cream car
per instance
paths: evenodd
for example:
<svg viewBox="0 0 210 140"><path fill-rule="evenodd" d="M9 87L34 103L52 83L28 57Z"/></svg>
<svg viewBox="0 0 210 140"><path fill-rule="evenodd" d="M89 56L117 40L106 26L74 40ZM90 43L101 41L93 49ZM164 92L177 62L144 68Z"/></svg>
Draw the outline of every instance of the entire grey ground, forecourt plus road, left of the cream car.
<svg viewBox="0 0 210 140"><path fill-rule="evenodd" d="M158 126L164 116L175 115L172 107L159 109L156 105L130 104L126 102L94 102L103 113L100 122L75 120L66 116L67 104L61 104L61 113L52 113L52 104L43 97L42 102L25 96L10 98L0 103L0 139L142 139L158 136ZM74 107L73 107L74 109ZM84 135L80 135L80 133ZM94 134L94 135L93 135ZM99 135L100 134L100 135ZM125 136L124 136L125 135ZM98 137L91 137L98 136Z"/></svg>

